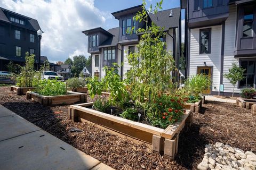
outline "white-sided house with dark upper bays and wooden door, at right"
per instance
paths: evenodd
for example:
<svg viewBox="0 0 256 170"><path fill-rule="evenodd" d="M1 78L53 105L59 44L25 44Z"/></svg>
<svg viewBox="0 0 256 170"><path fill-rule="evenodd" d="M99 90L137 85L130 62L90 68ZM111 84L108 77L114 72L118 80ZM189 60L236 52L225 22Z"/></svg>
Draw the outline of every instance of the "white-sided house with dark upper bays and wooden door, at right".
<svg viewBox="0 0 256 170"><path fill-rule="evenodd" d="M235 92L256 88L256 1L181 0L185 9L185 55L187 77L204 73L212 78L206 94L225 95L233 85L223 78L232 63L243 67L245 79Z"/></svg>

